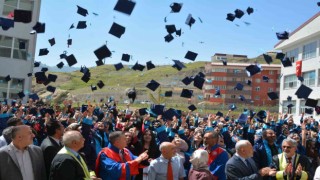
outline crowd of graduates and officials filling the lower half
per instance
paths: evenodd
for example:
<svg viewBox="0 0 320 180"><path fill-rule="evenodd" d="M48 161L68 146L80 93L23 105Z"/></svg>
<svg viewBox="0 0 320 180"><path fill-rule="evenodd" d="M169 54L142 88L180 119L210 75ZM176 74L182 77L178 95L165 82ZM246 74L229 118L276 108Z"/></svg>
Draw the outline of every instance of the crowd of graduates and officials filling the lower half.
<svg viewBox="0 0 320 180"><path fill-rule="evenodd" d="M72 104L1 104L0 180L320 179L312 116Z"/></svg>

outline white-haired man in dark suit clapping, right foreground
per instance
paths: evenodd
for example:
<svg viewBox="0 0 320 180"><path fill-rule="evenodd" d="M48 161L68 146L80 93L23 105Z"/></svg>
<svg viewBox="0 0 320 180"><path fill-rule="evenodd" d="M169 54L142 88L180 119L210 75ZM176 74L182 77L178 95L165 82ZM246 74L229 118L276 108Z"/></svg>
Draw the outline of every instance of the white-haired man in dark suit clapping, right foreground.
<svg viewBox="0 0 320 180"><path fill-rule="evenodd" d="M226 164L227 179L262 179L263 176L275 176L276 170L270 167L258 169L253 156L253 148L249 141L240 140L236 144L236 153Z"/></svg>

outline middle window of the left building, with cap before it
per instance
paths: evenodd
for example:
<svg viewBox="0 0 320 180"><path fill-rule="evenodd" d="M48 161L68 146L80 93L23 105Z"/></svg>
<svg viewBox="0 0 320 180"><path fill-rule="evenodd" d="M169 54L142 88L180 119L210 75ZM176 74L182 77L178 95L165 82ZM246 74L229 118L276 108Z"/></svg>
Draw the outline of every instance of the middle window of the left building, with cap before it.
<svg viewBox="0 0 320 180"><path fill-rule="evenodd" d="M20 44L24 44L25 47ZM27 49L28 40L0 35L0 57L27 60Z"/></svg>

